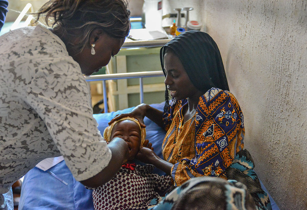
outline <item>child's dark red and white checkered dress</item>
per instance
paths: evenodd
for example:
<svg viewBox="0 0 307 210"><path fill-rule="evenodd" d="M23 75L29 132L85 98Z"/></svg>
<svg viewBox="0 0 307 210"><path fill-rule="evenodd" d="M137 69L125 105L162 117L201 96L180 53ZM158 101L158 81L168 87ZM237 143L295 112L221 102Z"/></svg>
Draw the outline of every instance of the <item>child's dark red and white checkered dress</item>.
<svg viewBox="0 0 307 210"><path fill-rule="evenodd" d="M163 192L172 185L171 176L151 173L153 165L125 165L109 182L93 190L96 210L147 210L149 205L159 200L158 192Z"/></svg>

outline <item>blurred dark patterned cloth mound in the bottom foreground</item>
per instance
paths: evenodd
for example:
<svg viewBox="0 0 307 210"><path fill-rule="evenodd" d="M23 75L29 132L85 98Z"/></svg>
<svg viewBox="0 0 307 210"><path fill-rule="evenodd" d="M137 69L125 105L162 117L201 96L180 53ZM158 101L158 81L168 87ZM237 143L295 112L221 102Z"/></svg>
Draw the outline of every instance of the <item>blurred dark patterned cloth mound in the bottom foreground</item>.
<svg viewBox="0 0 307 210"><path fill-rule="evenodd" d="M257 207L247 187L235 180L197 177L174 189L150 210L248 209Z"/></svg>

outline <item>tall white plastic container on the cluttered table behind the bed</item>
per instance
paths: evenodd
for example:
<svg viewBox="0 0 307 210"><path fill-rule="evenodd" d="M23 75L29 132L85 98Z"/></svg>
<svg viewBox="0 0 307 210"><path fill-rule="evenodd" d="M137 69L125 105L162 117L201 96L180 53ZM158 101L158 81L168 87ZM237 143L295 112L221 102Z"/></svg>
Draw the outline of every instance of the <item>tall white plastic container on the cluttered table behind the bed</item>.
<svg viewBox="0 0 307 210"><path fill-rule="evenodd" d="M162 0L144 0L145 28L150 31L162 30Z"/></svg>

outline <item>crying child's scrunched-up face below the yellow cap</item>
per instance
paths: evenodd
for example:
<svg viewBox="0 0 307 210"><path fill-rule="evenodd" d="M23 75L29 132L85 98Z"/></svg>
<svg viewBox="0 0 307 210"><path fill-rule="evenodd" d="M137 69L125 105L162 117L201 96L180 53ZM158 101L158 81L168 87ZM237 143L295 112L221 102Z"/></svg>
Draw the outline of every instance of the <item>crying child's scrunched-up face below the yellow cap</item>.
<svg viewBox="0 0 307 210"><path fill-rule="evenodd" d="M138 154L141 145L141 129L138 124L132 120L119 121L111 132L111 139L115 137L126 141L130 154L128 160L132 160Z"/></svg>

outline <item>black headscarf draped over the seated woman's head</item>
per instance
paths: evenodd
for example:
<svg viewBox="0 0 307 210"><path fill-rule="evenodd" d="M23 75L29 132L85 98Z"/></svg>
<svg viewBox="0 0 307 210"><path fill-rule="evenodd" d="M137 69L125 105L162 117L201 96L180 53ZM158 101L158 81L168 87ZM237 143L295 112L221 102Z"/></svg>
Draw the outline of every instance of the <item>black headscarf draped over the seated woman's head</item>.
<svg viewBox="0 0 307 210"><path fill-rule="evenodd" d="M160 50L163 72L166 48L176 53L192 84L204 94L212 87L229 91L220 50L209 34L190 30L165 44Z"/></svg>

